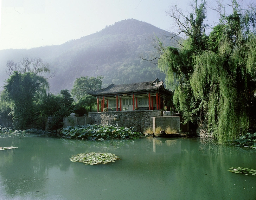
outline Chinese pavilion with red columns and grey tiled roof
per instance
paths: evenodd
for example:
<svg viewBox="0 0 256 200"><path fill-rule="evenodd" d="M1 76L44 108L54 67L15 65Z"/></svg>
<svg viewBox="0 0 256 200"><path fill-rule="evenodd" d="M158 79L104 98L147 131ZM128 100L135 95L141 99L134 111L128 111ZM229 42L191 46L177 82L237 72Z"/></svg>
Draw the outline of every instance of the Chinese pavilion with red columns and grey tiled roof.
<svg viewBox="0 0 256 200"><path fill-rule="evenodd" d="M111 84L107 88L97 91L87 91L89 95L97 97L97 111L106 107L108 110L160 110L164 108L164 99L172 92L164 88L163 81L131 83L124 85Z"/></svg>

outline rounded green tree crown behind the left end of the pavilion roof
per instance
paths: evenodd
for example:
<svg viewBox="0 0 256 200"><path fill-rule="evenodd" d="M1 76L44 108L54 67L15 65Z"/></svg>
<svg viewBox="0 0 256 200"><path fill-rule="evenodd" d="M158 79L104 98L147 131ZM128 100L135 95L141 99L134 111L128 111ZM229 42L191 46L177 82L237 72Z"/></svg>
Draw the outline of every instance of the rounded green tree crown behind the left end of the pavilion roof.
<svg viewBox="0 0 256 200"><path fill-rule="evenodd" d="M75 80L71 94L78 99L78 101L87 95L87 91L96 91L101 89L103 76L84 77L81 76Z"/></svg>

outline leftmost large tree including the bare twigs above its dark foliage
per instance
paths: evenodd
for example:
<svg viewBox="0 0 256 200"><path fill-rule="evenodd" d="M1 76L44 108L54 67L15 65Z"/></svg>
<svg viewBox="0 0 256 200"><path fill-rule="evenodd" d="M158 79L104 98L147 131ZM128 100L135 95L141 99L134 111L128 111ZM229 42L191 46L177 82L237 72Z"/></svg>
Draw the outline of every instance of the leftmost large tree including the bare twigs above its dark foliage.
<svg viewBox="0 0 256 200"><path fill-rule="evenodd" d="M24 58L20 64L8 61L7 67L10 76L6 80L4 93L11 103L14 128L26 129L34 121L38 98L46 96L49 90L49 77L41 76L50 72L49 66L41 59Z"/></svg>

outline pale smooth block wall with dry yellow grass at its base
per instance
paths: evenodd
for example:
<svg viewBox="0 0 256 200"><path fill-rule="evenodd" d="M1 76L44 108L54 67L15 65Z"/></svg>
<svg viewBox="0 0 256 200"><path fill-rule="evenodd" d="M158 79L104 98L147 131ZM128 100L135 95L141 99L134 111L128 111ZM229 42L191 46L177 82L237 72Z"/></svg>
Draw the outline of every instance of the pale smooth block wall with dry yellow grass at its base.
<svg viewBox="0 0 256 200"><path fill-rule="evenodd" d="M152 128L155 133L156 127L161 127L162 130L166 130L168 126L176 129L178 132L186 132L189 130L188 123L183 124L182 116L165 116L165 117L152 117Z"/></svg>

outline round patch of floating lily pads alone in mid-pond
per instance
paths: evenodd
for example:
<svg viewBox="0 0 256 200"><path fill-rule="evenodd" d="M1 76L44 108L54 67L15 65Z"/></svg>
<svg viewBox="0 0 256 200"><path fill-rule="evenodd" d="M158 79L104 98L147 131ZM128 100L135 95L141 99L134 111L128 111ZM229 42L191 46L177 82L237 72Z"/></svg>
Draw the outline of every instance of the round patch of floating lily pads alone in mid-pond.
<svg viewBox="0 0 256 200"><path fill-rule="evenodd" d="M106 164L108 162L115 162L115 160L121 160L118 156L111 153L81 153L71 156L72 162L82 162L84 164Z"/></svg>

